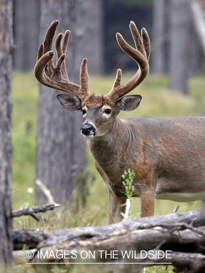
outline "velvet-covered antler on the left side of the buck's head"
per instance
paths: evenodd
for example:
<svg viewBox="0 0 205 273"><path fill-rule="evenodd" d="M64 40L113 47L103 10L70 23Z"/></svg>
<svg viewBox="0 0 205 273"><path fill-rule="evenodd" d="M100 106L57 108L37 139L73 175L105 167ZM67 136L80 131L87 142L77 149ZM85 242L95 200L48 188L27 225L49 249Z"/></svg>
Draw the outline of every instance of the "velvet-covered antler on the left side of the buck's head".
<svg viewBox="0 0 205 273"><path fill-rule="evenodd" d="M64 35L63 33L60 33L56 37L55 48L57 53L57 61L56 67L54 66L52 60L54 56L54 52L52 51L52 44L57 26L58 21L55 20L46 32L44 42L39 47L34 74L39 83L54 89L71 93L75 96L78 96L81 101L84 101L84 99L90 95L88 80L89 77L87 73L87 59L84 59L81 64L81 86L70 82L67 76L65 64L65 53L70 35L70 31L67 30Z"/></svg>

